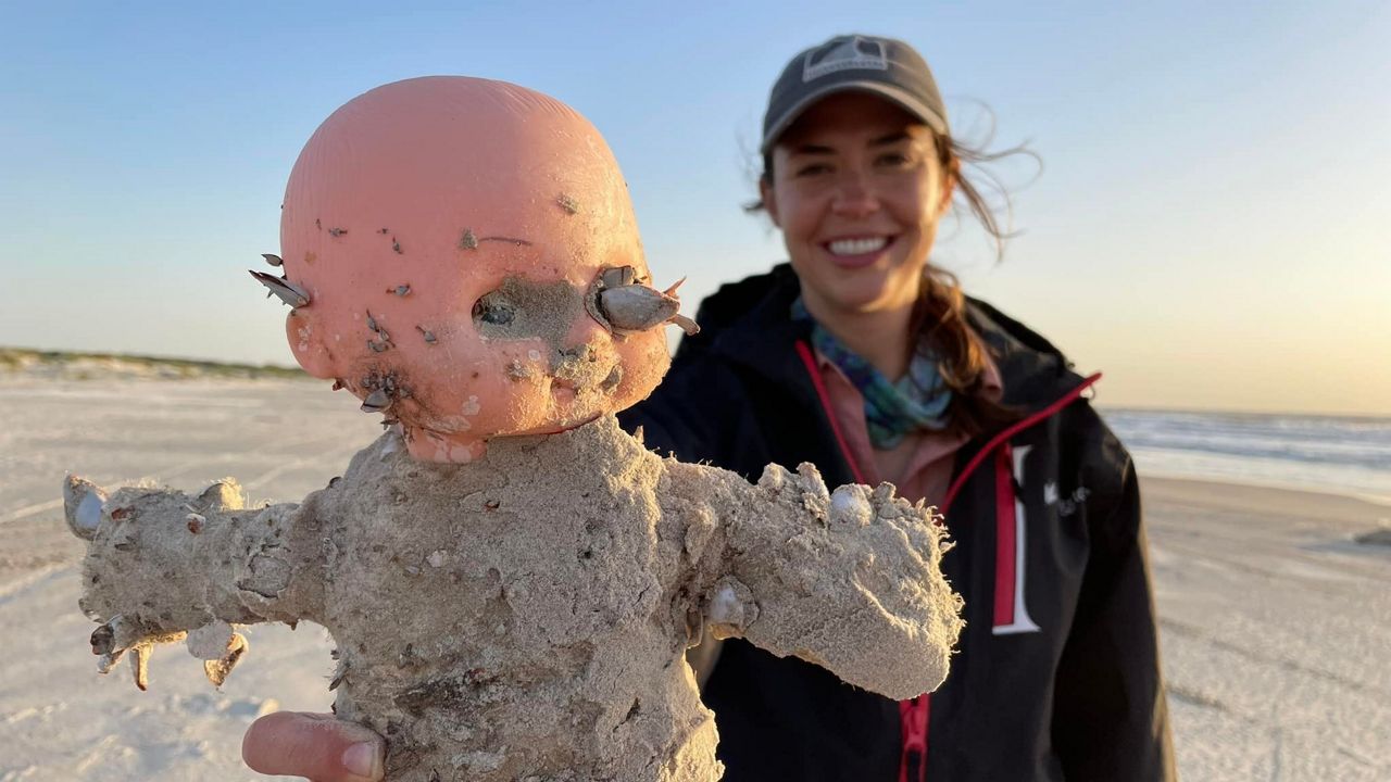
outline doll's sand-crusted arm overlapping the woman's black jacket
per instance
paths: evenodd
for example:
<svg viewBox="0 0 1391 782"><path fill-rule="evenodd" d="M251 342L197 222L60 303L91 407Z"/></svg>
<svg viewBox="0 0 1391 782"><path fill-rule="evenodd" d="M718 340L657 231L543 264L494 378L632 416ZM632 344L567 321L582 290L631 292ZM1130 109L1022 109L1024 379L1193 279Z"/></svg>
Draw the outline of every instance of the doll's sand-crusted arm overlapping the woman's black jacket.
<svg viewBox="0 0 1391 782"><path fill-rule="evenodd" d="M715 637L743 637L892 699L936 689L961 630L944 533L893 486L826 490L812 465L757 486L668 461L670 505L694 519L696 590ZM690 533L687 550L690 551Z"/></svg>

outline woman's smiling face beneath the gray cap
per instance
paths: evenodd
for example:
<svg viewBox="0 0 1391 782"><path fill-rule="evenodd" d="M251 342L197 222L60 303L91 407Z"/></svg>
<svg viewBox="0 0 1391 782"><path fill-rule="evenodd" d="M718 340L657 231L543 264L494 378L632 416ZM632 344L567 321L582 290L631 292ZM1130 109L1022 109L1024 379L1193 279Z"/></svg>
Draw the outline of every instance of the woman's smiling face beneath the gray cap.
<svg viewBox="0 0 1391 782"><path fill-rule="evenodd" d="M825 320L911 306L951 184L932 131L897 106L847 92L808 109L762 184L807 309Z"/></svg>

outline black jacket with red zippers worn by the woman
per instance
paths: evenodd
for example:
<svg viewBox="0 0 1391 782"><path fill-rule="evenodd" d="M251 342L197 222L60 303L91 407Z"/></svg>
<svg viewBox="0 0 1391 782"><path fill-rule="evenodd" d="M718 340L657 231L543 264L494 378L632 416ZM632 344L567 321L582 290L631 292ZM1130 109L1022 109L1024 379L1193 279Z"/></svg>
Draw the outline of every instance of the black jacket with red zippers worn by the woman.
<svg viewBox="0 0 1391 782"><path fill-rule="evenodd" d="M779 266L707 299L701 334L625 426L750 480L769 462L805 461L829 486L853 483L807 334L789 317L796 294ZM970 317L1022 419L963 447L949 497L929 498L956 541L943 568L965 598L951 673L899 704L727 641L704 690L727 782L1174 776L1139 490L1081 398L1096 378L989 305L972 301Z"/></svg>

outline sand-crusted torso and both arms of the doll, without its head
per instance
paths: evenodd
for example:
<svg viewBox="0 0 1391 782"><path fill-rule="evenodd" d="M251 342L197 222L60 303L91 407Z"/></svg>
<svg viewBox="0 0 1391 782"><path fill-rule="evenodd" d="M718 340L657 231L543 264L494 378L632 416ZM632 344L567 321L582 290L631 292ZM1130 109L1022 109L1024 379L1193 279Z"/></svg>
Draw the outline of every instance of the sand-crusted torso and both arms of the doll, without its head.
<svg viewBox="0 0 1391 782"><path fill-rule="evenodd" d="M751 486L612 416L472 465L387 433L300 505L203 508L192 532L189 504L115 493L83 608L166 640L321 623L335 711L387 736L391 779L718 779L682 657L702 622L899 699L940 683L960 630L940 527L892 487L832 495L810 466Z"/></svg>

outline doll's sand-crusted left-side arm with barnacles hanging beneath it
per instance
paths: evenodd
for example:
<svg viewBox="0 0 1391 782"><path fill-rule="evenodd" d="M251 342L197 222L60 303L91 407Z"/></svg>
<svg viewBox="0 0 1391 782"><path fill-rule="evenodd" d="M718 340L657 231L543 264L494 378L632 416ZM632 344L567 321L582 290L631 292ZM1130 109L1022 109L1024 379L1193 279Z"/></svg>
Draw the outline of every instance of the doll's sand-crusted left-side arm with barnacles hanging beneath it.
<svg viewBox="0 0 1391 782"><path fill-rule="evenodd" d="M248 509L234 480L196 498L168 488L121 488L107 498L68 476L64 515L88 540L79 603L102 622L92 633L99 669L131 653L143 690L149 650L186 636L207 678L221 685L246 650L231 625L320 616L323 494Z"/></svg>

